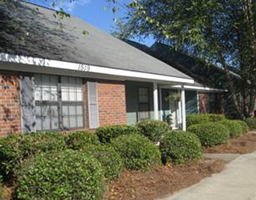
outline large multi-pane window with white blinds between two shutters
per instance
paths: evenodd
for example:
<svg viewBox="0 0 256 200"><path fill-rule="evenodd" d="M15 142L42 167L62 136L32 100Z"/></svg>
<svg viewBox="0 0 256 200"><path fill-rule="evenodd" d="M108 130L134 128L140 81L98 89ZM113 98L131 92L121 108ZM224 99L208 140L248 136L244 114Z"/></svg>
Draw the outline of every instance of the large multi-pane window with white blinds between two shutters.
<svg viewBox="0 0 256 200"><path fill-rule="evenodd" d="M35 75L36 130L84 127L82 78Z"/></svg>

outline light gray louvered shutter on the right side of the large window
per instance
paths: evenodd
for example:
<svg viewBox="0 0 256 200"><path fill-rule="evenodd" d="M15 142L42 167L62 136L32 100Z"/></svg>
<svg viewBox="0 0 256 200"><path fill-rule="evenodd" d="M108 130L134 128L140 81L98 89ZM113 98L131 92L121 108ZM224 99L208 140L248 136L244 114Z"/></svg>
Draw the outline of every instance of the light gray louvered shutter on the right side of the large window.
<svg viewBox="0 0 256 200"><path fill-rule="evenodd" d="M87 88L89 104L89 128L94 129L99 127L97 82L87 82Z"/></svg>

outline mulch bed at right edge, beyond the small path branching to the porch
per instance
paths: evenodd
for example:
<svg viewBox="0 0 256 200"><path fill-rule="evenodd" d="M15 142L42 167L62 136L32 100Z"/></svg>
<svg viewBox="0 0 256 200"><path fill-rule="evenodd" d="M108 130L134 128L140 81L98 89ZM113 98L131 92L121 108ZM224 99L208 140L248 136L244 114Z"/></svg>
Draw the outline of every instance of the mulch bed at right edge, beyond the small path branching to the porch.
<svg viewBox="0 0 256 200"><path fill-rule="evenodd" d="M256 150L256 132L250 132L240 138L231 138L227 144L204 149L212 154L249 154Z"/></svg>

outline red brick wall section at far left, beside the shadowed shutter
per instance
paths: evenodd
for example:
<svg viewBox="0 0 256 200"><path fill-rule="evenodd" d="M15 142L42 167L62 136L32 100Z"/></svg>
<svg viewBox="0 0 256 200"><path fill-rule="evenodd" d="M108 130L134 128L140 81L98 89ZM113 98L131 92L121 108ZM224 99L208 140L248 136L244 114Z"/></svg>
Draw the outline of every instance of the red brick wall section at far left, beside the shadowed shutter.
<svg viewBox="0 0 256 200"><path fill-rule="evenodd" d="M0 74L0 137L20 133L19 77Z"/></svg>

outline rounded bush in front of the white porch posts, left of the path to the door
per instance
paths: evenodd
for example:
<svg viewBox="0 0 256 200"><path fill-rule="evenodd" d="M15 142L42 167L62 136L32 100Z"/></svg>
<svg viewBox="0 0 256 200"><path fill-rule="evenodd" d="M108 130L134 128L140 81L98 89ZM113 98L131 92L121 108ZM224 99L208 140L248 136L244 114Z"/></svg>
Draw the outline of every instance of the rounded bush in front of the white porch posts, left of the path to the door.
<svg viewBox="0 0 256 200"><path fill-rule="evenodd" d="M162 162L174 164L186 163L200 159L203 155L201 142L193 133L185 131L170 131L160 142Z"/></svg>

